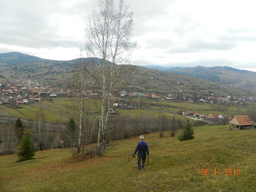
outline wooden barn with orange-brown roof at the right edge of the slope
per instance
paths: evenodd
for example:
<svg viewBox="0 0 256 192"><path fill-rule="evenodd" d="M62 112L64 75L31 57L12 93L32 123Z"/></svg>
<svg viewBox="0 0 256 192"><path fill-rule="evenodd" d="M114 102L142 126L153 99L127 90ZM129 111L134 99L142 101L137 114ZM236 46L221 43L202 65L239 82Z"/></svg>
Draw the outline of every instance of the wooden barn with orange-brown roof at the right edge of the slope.
<svg viewBox="0 0 256 192"><path fill-rule="evenodd" d="M235 115L229 120L228 123L233 124L233 128L237 129L243 129L246 127L249 128L253 126L253 121L248 115Z"/></svg>

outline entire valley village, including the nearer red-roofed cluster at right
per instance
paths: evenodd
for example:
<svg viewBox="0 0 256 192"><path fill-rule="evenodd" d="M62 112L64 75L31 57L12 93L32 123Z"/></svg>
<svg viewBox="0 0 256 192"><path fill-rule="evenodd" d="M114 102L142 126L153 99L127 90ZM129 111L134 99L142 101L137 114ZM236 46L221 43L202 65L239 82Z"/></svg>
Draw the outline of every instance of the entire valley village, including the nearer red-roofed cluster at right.
<svg viewBox="0 0 256 192"><path fill-rule="evenodd" d="M92 83L92 86L95 87L95 83ZM167 102L211 103L220 106L223 105L223 107L243 106L245 102L256 102L255 96L243 96L239 98L235 96L231 97L230 95L221 97L214 93L209 93L209 95L182 94L182 90L180 90L178 94L165 95L151 92L151 90L147 91L144 87L134 85L129 86L129 92L116 89L111 96L113 104L109 113L118 114L116 111L118 109L133 109L135 104L132 103L129 98L140 98L143 99L143 101L144 99L150 99L152 101L165 100ZM101 95L102 90L99 89L90 89L84 93L86 99L99 99ZM34 102L51 101L52 98L56 97L76 97L76 90L53 87L48 83L36 83L32 82L32 80L24 79L0 84L0 105L9 104L12 108L19 108L20 105L29 105ZM222 112L226 112L226 114L204 114L187 109L177 110L177 114L192 117L194 120L197 119L199 121L221 121L224 119L227 121L232 117L227 111L223 110Z"/></svg>

